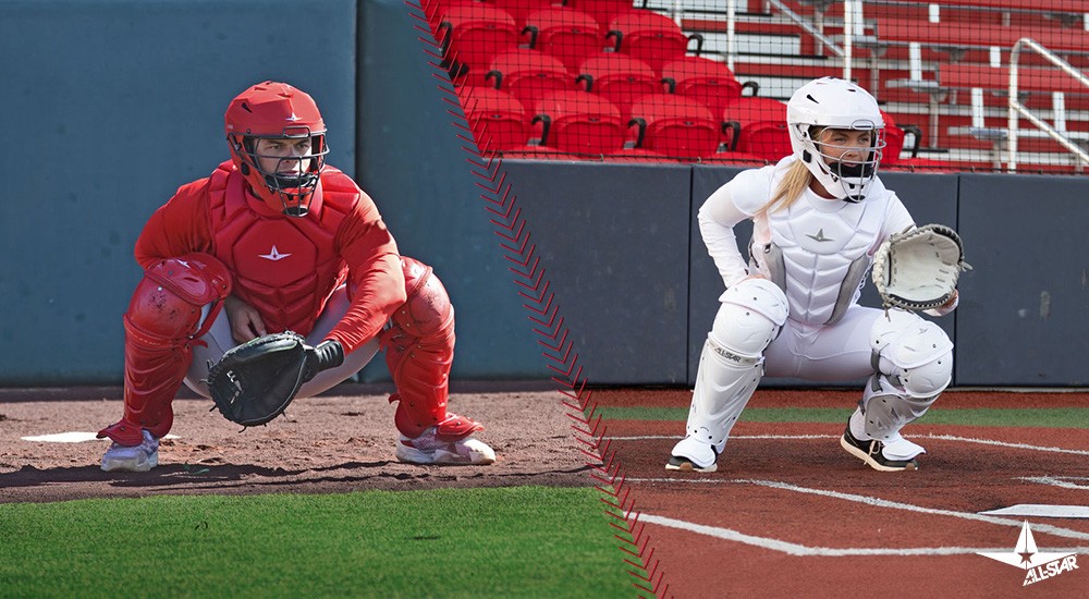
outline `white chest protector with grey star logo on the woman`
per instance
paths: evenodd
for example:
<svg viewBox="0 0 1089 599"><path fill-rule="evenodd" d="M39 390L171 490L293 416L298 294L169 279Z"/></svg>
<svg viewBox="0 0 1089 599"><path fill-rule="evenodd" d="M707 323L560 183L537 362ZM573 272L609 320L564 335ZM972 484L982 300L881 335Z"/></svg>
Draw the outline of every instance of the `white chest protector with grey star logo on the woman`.
<svg viewBox="0 0 1089 599"><path fill-rule="evenodd" d="M751 269L783 290L792 320L831 325L858 300L894 198L877 180L858 204L807 190L790 208L756 222Z"/></svg>

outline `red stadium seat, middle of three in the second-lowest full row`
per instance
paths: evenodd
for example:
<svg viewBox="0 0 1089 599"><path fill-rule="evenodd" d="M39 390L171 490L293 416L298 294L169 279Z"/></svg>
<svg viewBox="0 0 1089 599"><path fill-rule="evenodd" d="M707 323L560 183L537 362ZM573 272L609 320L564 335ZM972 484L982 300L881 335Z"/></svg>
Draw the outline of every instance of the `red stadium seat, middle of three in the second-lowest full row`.
<svg viewBox="0 0 1089 599"><path fill-rule="evenodd" d="M662 85L654 71L641 60L605 52L583 61L575 82L585 90L599 94L620 109L627 121L635 100L662 93Z"/></svg>

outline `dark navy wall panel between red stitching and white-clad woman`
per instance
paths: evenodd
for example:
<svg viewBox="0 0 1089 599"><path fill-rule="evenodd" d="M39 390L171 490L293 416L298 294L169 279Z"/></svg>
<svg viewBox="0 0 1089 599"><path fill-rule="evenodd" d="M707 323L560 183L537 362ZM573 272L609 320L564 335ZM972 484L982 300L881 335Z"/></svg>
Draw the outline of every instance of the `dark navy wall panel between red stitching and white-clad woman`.
<svg viewBox="0 0 1089 599"><path fill-rule="evenodd" d="M506 162L591 383L683 383L687 166Z"/></svg>

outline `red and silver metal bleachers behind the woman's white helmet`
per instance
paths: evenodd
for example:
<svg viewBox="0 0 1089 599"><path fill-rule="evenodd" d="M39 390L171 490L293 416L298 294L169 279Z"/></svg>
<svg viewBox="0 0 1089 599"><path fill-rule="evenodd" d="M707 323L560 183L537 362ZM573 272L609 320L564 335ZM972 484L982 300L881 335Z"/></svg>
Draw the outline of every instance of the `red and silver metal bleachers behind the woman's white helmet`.
<svg viewBox="0 0 1089 599"><path fill-rule="evenodd" d="M665 4L671 4L674 9L672 14L678 23L682 22L684 5L692 5L692 2L684 2L683 0L659 0L657 3L662 4L662 8L665 8ZM734 69L735 62L738 62L736 25L738 22L752 17L751 14L748 14L748 11L750 4L756 3L755 1L747 2L745 0L718 0L700 4L705 7L705 13L717 11L717 15L711 19L722 22L719 26L727 33L727 47L721 54L731 69ZM816 47L824 54L820 57L824 59L821 61L824 71L839 71L842 73L841 76L852 78L853 68L857 71L858 66L862 65L862 70L869 70L871 78L869 88L874 95L879 96L879 99L881 99L881 70L883 68L904 70L903 58L890 61L884 58L885 50L892 47L908 48L909 59L907 61L907 70L910 73L909 77L886 80L883 83L886 89L909 89L915 93L925 94L929 98L925 113L930 126L927 135L928 145L922 148L925 152L930 151L947 155L954 162L965 159L968 162L975 162L971 156L972 152L980 151L979 149L957 150L956 144L943 143L939 145L940 142L946 142L950 138L955 139L958 136L970 136L991 145L991 164L994 170L1003 170L1002 162L1005 159L1005 169L1010 172L1016 171L1018 161L1024 163L1037 161L1040 164L1056 166L1060 169L1073 167L1072 170L1074 172L1085 172L1085 167L1089 163L1089 154L1086 152L1086 148L1089 148L1089 131L1085 131L1087 129L1085 125L1089 122L1089 111L1078 111L1074 119L1072 119L1072 121L1076 121L1078 127L1068 131L1064 130L1060 124L1065 124L1066 118L1061 93L1078 94L1079 99L1082 99L1082 95L1085 95L1085 98L1089 98L1089 89L1085 89L1084 91L1079 89L1079 84L1085 84L1085 87L1089 87L1089 80L1086 78L1085 74L1077 66L1063 60L1060 54L1067 58L1073 56L1079 58L1089 56L1089 2L1085 0L934 0L933 2L866 0L865 4L910 7L917 13L921 11L923 14L929 11L929 20L905 19L901 22L897 22L896 19L868 17L869 15L862 9L862 0L793 0L793 7L811 7L811 11L808 11L808 13L804 10L800 12L793 10L792 4L786 0L761 0L759 3L762 5L766 17L771 19L771 15L778 17L776 24L781 24L783 21L793 23L796 35L812 38ZM830 16L829 13L832 12L831 9L835 4L844 4L842 15ZM857 5L857 8L853 5ZM987 17L981 19L979 26L957 29L951 35L949 27L942 27L939 24L941 21L939 14L947 10L962 11L960 15L965 14L965 12L979 12L980 15L987 15ZM1018 15L1036 19L1037 23L1053 22L1055 25L1054 27L1045 25L1032 27L1012 25L1012 22ZM705 14L700 19L706 22L708 16ZM998 24L996 22L1000 19L1001 24ZM770 23L771 21L768 22ZM933 26L928 26L928 23L932 23ZM1026 35L1026 32L1036 37L1025 40L1024 38L1029 37ZM1017 82L1014 81L1017 69L1013 60L1023 47L1036 50L1038 54L1043 56L1049 62L1055 65L1055 69L1048 69L1047 72L1042 73L1045 77L1065 78L1056 81L1052 87L1045 83L1040 83L1039 75L1041 73L1035 73L1033 71L1036 70L1033 69L1025 69L1023 71L1026 75L1024 82L1027 85L1018 86ZM867 49L869 50L869 56L858 58L854 52L855 49ZM926 69L922 69L920 68L922 63L920 49L931 52L943 52L947 54L949 60L933 62L931 59L930 64ZM949 68L956 64L968 52L972 52L976 56L989 56L990 68L1000 69L1005 66L1006 71L1013 73L1008 82L1003 82L1003 85L999 86L993 84L995 73L984 72L987 68L984 64L978 65L981 69L979 72L981 80L988 82L981 85L982 89L989 91L992 96L1001 96L1008 90L1010 95L1006 98L1006 108L1008 108L1010 113L1008 126L983 125L982 115L984 108L982 101L979 100L980 91L977 88L978 84L971 85L972 82L967 78L968 75L962 74L959 81L953 77L950 77L949 82L940 78L943 66ZM1011 58L1008 65L1001 64L1003 54ZM1052 57L1054 60L1052 60ZM745 60L748 58L750 57L746 57ZM978 62L987 62L987 58ZM1080 62L1084 62L1084 60ZM950 71L954 70L950 69ZM1065 75L1063 71L1065 71ZM934 78L923 78L923 72L933 73ZM741 72L738 76L748 77L749 75ZM1074 81L1073 85L1070 77ZM970 112L964 106L955 106L957 103L956 93L960 89L968 89L972 93L974 101ZM1051 115L1060 126L1050 125L1045 120L1047 117L1032 113L1025 108L1023 100L1027 95L1055 94L1056 91L1060 93L1060 96L1053 100L1054 106L1051 110ZM946 103L947 100L950 103ZM990 119L994 119L996 110L990 109L988 111ZM920 111L919 113L922 112ZM939 121L942 115L965 118L969 114L972 122L971 126L946 126L944 134L940 135L942 130ZM1031 122L1035 127L1021 131L1014 129L1017 126L1018 115ZM1045 154L1036 155L1035 157L1032 155L1025 155L1024 151L1021 155L1018 155L1016 142L1018 136L1050 138L1069 152L1069 161L1056 163L1055 156L1061 157L1063 154L1055 155L1053 154L1054 150L1048 149L1041 150L1045 151ZM1040 144L1036 146L1043 147ZM1029 151L1031 151L1031 148Z"/></svg>

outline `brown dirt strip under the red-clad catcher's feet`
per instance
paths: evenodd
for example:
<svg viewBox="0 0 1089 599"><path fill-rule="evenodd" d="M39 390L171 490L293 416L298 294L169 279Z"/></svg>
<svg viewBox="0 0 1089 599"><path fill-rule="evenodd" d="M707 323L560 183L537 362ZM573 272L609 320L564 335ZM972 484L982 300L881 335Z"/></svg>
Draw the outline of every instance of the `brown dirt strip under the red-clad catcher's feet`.
<svg viewBox="0 0 1089 599"><path fill-rule="evenodd" d="M0 391L0 502L162 493L337 492L366 489L589 485L558 393L454 388L450 408L482 421L490 466L415 466L393 456L394 406L376 384L344 384L292 404L286 417L240 431L211 402L182 395L150 473L103 473L105 440L23 437L93 432L121 416L119 388ZM494 387L494 386L492 386Z"/></svg>

